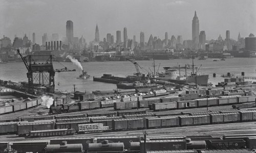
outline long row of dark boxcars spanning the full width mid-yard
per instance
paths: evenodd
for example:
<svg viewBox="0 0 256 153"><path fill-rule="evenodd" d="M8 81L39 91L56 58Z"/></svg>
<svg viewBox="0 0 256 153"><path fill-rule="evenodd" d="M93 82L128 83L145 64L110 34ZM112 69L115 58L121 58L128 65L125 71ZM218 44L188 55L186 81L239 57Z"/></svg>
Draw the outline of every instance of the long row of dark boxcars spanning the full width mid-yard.
<svg viewBox="0 0 256 153"><path fill-rule="evenodd" d="M75 116L75 115L73 115ZM156 116L155 114L134 114L111 117L71 117L56 118L51 120L35 120L32 122L4 122L0 123L0 134L16 133L20 136L31 135L31 131L64 129L63 133L67 133L67 129L73 129L80 133L81 124L102 124L108 126L108 131L138 130L138 129L154 129L161 127L176 126L194 126L204 124L220 124L230 122L247 122L256 120L256 111L231 111L231 112L198 112L176 116ZM66 130L66 131L65 131ZM44 131L46 133L46 131ZM42 133L42 132L41 132ZM64 135L67 135L67 134ZM72 134L72 133L71 133ZM48 135L48 136L52 136ZM63 134L54 134L63 135Z"/></svg>

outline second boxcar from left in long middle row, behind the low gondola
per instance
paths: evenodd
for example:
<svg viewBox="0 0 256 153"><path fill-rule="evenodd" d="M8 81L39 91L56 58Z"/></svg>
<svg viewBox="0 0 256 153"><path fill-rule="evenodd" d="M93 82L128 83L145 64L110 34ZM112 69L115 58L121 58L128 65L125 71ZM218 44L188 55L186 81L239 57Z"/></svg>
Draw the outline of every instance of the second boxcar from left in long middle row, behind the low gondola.
<svg viewBox="0 0 256 153"><path fill-rule="evenodd" d="M17 134L18 135L27 135L30 131L37 130L52 130L54 129L53 122L28 122L17 124Z"/></svg>

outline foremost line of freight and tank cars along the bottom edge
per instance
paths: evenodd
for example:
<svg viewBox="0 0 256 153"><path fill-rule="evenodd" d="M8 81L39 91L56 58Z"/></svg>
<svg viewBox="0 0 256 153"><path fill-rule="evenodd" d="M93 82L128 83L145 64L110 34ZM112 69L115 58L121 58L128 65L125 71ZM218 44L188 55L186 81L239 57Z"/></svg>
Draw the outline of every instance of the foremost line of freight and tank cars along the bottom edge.
<svg viewBox="0 0 256 153"><path fill-rule="evenodd" d="M146 146L141 136L60 138L40 142L10 144L17 152L254 152L256 135L212 136L147 136ZM0 143L0 152L8 148Z"/></svg>

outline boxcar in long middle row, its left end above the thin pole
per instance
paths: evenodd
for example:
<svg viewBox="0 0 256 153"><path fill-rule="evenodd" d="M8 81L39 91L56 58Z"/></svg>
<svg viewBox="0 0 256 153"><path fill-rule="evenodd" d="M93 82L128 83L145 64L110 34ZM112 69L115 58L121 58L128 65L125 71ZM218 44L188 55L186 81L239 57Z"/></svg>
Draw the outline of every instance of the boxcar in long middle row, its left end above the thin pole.
<svg viewBox="0 0 256 153"><path fill-rule="evenodd" d="M157 118L147 118L146 127L148 129L155 127L166 127L166 126L179 126L178 117L157 117Z"/></svg>

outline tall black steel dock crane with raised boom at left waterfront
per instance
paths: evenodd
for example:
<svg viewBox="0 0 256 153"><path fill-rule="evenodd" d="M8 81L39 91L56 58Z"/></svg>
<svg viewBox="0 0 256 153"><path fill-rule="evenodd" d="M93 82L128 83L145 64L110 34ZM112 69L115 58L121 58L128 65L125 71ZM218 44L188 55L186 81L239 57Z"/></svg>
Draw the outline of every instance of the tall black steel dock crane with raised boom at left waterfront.
<svg viewBox="0 0 256 153"><path fill-rule="evenodd" d="M28 72L27 72L27 78L28 78L28 92L33 93L34 87L36 86L46 86L47 92L54 92L55 83L54 83L54 76L55 72L69 72L69 71L76 71L75 69L69 70L67 67L64 67L62 69L53 69L52 64L52 58L53 55L44 55L46 57L49 57L47 61L45 62L37 62L32 57L35 57L37 55L28 55L24 57L22 54L20 54L19 49L17 49L17 52L22 58ZM38 55L41 56L41 55Z"/></svg>

